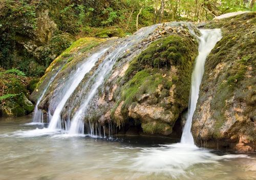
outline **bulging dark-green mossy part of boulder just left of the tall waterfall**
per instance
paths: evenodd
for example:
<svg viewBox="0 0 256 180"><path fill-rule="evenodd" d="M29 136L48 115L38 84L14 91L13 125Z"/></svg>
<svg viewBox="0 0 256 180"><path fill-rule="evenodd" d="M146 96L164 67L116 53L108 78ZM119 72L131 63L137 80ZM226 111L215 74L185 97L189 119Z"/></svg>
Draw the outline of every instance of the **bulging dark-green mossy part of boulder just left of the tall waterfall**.
<svg viewBox="0 0 256 180"><path fill-rule="evenodd" d="M174 123L188 106L197 54L197 40L188 34L152 42L118 80L120 88L111 113L115 122L122 124L132 118L141 123L146 134L172 133Z"/></svg>

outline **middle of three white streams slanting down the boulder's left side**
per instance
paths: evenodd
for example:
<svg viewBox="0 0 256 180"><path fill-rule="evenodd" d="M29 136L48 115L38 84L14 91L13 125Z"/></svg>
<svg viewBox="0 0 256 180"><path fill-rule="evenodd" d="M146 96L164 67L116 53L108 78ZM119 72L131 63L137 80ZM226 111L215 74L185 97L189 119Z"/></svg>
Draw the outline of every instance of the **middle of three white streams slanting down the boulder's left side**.
<svg viewBox="0 0 256 180"><path fill-rule="evenodd" d="M83 79L84 75L86 75L95 65L95 62L98 60L99 57L101 57L108 49L104 49L99 53L93 54L91 57L89 57L79 68L77 68L75 74L71 77L70 81L72 82L70 86L68 87L68 90L63 95L61 101L58 103L52 119L50 121L49 130L54 130L56 128L60 128L60 113L62 111L62 108L65 106L67 100L70 98L70 96L75 91L78 84Z"/></svg>

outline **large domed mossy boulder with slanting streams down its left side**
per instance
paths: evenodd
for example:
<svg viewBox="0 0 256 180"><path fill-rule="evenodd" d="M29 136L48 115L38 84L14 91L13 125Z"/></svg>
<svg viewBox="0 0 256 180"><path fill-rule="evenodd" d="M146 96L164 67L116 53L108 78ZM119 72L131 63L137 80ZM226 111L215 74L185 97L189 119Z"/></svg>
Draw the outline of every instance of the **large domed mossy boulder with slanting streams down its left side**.
<svg viewBox="0 0 256 180"><path fill-rule="evenodd" d="M137 33L154 27L152 33L120 54L108 78L99 86L91 100L84 121L106 127L114 124L115 127L120 127L120 133L122 131L130 134L131 129L135 129L136 134L139 132L180 137L180 119L188 106L193 62L198 53L198 39L191 31L197 34L199 32L191 24L173 22L147 27ZM93 53L111 47L96 62L90 73L84 76L63 107L62 119L72 120L90 91L91 75L109 52L115 51L119 44L127 41L126 38L94 38L93 41L95 40L105 42L87 53L81 52L85 48L82 43L75 42L75 51L66 55L69 48L52 62L31 95L31 99L36 101L50 78L60 69L42 98L40 108L50 110L53 114L65 91L65 83L79 64ZM73 60L68 62L69 59ZM176 122L178 129L175 128Z"/></svg>

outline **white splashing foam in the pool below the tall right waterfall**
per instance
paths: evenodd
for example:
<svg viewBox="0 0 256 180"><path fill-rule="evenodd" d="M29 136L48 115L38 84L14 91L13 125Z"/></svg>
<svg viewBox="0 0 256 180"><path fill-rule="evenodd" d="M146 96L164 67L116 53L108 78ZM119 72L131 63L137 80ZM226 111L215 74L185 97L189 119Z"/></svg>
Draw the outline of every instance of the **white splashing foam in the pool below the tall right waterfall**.
<svg viewBox="0 0 256 180"><path fill-rule="evenodd" d="M219 164L221 160L249 158L244 154L217 155L209 150L186 144L163 145L159 148L143 148L134 158L132 169L142 173L164 173L174 178L185 175L197 164Z"/></svg>

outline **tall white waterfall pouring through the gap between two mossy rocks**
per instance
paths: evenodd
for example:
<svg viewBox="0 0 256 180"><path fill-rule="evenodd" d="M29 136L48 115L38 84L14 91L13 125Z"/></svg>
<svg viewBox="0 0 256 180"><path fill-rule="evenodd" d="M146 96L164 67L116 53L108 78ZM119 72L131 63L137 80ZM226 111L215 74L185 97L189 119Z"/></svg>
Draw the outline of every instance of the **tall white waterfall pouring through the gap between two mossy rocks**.
<svg viewBox="0 0 256 180"><path fill-rule="evenodd" d="M188 105L188 113L186 123L183 129L181 143L194 145L194 139L191 134L191 124L194 112L196 110L197 100L199 96L200 84L204 74L204 64L206 57L210 51L215 47L215 44L221 39L221 30L200 30L201 36L198 37L199 49L198 56L196 58L196 64L191 77L190 97Z"/></svg>

